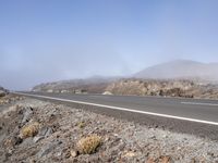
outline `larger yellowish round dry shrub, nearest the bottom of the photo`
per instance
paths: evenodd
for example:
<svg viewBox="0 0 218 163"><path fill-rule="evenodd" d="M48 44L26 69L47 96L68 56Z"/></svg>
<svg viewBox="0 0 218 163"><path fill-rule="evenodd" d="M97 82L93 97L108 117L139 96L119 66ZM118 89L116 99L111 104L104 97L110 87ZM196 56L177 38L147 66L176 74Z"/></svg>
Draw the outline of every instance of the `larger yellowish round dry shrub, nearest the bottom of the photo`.
<svg viewBox="0 0 218 163"><path fill-rule="evenodd" d="M82 154L92 154L96 151L96 148L100 145L101 137L97 135L92 135L85 138L82 138L77 142L77 150Z"/></svg>

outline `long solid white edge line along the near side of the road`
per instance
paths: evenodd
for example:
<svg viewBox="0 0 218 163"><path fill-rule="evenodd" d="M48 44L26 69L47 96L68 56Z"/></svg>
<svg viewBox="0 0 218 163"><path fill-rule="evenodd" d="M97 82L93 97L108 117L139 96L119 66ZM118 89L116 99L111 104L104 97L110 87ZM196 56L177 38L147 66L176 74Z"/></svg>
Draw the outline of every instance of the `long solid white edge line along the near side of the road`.
<svg viewBox="0 0 218 163"><path fill-rule="evenodd" d="M107 109L112 109L112 110L134 112L134 113L155 115L155 116L161 116L161 117L169 117L169 118L175 118L175 120L182 120L182 121L196 122L196 123L209 124L209 125L218 126L217 122L210 122L210 121L204 121L204 120L189 118L189 117L174 116L174 115L168 115L168 114L160 114L160 113L154 113L154 112L145 112L145 111L132 110L132 109L128 109L128 108L120 108L120 106L113 106L113 105L105 105L105 104L98 104L98 103L90 103L90 102L83 102L83 101L75 101L75 100L68 100L68 99L60 99L60 98L52 98L52 97L46 97L46 96L39 96L39 95L29 95L29 93L23 93L23 92L14 92L14 93L22 95L22 96L28 96L28 97L35 97L35 98L44 98L44 99L50 99L50 100L57 100L57 101L63 101L63 102L72 102L72 103L80 103L80 104L86 104L86 105L95 105L95 106L107 108Z"/></svg>

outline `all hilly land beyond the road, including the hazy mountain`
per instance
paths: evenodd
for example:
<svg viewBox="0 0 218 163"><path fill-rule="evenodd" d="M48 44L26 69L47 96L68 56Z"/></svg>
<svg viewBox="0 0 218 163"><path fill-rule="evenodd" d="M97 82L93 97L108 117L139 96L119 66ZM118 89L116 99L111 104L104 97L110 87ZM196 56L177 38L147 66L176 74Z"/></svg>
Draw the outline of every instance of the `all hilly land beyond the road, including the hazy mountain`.
<svg viewBox="0 0 218 163"><path fill-rule="evenodd" d="M218 63L177 60L132 78L99 77L40 84L33 91L218 99Z"/></svg>

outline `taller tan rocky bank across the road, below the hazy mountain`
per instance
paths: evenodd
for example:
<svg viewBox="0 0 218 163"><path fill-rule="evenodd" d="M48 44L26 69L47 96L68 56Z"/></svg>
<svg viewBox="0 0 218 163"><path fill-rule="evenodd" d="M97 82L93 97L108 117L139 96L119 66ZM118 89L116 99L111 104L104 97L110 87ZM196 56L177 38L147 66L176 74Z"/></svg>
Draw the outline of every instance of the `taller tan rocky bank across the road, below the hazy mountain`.
<svg viewBox="0 0 218 163"><path fill-rule="evenodd" d="M218 85L192 80L123 79L110 84L106 90L113 95L218 99Z"/></svg>

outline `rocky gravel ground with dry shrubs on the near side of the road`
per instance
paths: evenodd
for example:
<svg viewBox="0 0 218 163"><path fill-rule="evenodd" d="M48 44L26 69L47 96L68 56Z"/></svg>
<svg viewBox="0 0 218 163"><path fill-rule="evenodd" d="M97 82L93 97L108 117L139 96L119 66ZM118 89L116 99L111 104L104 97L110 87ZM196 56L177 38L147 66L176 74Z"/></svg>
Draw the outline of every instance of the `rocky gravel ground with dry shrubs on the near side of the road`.
<svg viewBox="0 0 218 163"><path fill-rule="evenodd" d="M61 104L13 99L0 105L0 162L218 162L217 141Z"/></svg>

